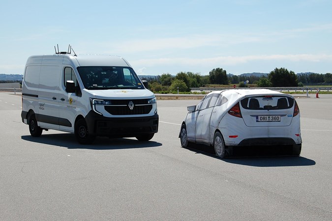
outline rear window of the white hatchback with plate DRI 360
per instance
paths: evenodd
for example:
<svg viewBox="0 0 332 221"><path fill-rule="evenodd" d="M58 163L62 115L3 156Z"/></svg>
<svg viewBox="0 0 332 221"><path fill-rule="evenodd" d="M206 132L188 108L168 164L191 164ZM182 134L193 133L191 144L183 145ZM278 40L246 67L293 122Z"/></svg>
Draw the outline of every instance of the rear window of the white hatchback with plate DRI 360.
<svg viewBox="0 0 332 221"><path fill-rule="evenodd" d="M247 110L282 110L292 108L294 99L282 96L257 96L241 100L241 106Z"/></svg>

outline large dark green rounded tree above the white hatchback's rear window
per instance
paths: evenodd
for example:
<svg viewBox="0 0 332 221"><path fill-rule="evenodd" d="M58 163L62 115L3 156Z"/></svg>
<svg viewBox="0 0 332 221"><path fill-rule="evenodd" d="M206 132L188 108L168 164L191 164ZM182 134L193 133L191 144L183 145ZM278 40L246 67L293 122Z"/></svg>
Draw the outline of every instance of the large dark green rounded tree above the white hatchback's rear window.
<svg viewBox="0 0 332 221"><path fill-rule="evenodd" d="M273 87L298 86L298 77L294 71L288 71L286 68L275 68L270 72L269 80Z"/></svg>

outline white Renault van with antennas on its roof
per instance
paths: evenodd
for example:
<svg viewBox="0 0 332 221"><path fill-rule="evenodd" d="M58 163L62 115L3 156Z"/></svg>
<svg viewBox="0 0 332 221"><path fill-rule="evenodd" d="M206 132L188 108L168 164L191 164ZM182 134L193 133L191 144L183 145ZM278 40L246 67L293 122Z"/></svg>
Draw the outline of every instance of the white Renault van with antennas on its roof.
<svg viewBox="0 0 332 221"><path fill-rule="evenodd" d="M159 117L155 96L144 84L119 56L30 56L22 121L33 137L54 129L74 133L81 144L96 136L148 141L158 132Z"/></svg>

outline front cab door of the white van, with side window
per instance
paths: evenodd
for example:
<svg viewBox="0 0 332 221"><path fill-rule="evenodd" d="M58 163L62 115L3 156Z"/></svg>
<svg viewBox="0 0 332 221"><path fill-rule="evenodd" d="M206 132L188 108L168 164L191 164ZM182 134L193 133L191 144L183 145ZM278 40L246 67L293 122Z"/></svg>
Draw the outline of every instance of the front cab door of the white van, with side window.
<svg viewBox="0 0 332 221"><path fill-rule="evenodd" d="M59 124L60 130L74 132L74 120L77 112L77 97L81 97L81 89L77 81L74 69L64 67L61 76L60 101L59 101ZM67 81L73 81L77 88L76 93L67 93L65 84Z"/></svg>

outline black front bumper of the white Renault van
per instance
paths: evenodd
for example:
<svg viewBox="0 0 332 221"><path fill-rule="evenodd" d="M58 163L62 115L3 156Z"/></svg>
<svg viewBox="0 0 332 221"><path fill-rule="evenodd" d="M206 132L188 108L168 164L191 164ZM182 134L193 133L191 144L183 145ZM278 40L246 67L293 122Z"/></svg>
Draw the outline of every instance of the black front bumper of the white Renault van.
<svg viewBox="0 0 332 221"><path fill-rule="evenodd" d="M110 138L131 138L158 132L158 114L145 117L104 117L90 111L85 117L89 133Z"/></svg>

